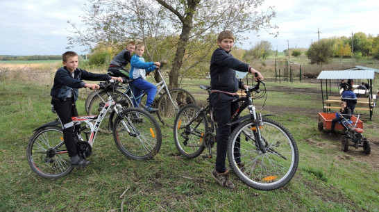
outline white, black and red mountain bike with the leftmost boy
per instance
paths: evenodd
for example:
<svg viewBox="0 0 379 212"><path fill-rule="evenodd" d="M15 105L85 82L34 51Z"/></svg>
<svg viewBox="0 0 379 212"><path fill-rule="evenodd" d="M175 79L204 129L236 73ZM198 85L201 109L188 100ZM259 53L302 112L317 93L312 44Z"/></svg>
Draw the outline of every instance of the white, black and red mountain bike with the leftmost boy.
<svg viewBox="0 0 379 212"><path fill-rule="evenodd" d="M103 90L108 90L115 83L110 80L99 85ZM108 101L104 103L99 115L72 117L74 124L84 124L74 132L79 157L88 158L92 154L99 126L110 110L117 114L112 132L115 144L122 154L135 160L151 159L158 154L162 133L155 118L140 108L123 108L108 93ZM59 119L43 124L33 130L35 133L29 139L26 149L28 164L40 177L56 179L74 169L70 164L60 125ZM82 133L85 134L85 139L81 136Z"/></svg>

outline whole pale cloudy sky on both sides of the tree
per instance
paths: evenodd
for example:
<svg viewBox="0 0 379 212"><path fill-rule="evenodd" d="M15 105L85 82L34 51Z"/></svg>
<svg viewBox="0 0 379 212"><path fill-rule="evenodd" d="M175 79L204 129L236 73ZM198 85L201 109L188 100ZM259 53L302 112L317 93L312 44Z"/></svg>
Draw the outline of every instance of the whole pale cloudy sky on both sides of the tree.
<svg viewBox="0 0 379 212"><path fill-rule="evenodd" d="M81 25L81 9L86 0L0 0L0 55L60 55L67 51L67 36L73 35L67 20ZM259 8L275 6L279 26L273 38L266 31L249 34L243 49L261 40L273 50L308 48L313 41L334 36L351 37L351 33L379 34L379 1L377 0L266 0ZM318 34L317 31L320 33ZM288 40L288 41L287 41ZM71 51L85 54L77 45Z"/></svg>

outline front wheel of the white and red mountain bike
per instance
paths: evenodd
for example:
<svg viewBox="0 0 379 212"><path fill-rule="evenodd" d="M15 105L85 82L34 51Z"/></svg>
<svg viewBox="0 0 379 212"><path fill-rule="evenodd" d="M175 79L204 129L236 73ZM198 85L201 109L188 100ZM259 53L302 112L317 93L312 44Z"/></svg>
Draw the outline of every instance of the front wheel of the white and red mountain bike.
<svg viewBox="0 0 379 212"><path fill-rule="evenodd" d="M127 126L131 133L126 130ZM126 108L117 115L113 138L119 151L133 160L148 160L158 154L162 132L153 115L141 108Z"/></svg>

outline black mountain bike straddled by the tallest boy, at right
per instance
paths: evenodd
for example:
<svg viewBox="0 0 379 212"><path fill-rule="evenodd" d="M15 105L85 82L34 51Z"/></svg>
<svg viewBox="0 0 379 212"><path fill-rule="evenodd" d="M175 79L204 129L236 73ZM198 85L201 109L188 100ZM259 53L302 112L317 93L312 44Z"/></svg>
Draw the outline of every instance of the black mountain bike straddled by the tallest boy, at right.
<svg viewBox="0 0 379 212"><path fill-rule="evenodd" d="M230 168L247 186L258 190L274 190L287 184L298 166L298 148L292 134L282 124L255 112L253 99L266 97L265 83L261 92L260 83L246 88L245 97L239 97L237 112L230 118L230 124L238 124L228 141ZM199 156L205 148L204 158L212 158L212 147L216 144L213 108L210 104L210 86L200 85L208 91L208 104L200 108L195 104L184 106L174 122L176 148L186 158ZM251 95L254 92L255 95ZM239 117L248 108L249 114ZM238 157L238 158L237 158ZM241 161L243 167L238 167Z"/></svg>

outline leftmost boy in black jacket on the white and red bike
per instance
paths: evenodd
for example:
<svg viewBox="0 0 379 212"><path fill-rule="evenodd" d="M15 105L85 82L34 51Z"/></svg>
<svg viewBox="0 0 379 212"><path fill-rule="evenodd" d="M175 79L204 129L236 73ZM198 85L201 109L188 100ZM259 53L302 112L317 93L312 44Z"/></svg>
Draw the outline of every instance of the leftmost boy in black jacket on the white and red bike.
<svg viewBox="0 0 379 212"><path fill-rule="evenodd" d="M114 79L121 81L121 77L112 77L108 74L92 74L78 68L78 54L74 51L67 51L62 54L62 64L56 76L54 76L54 85L51 88L51 104L59 116L62 123L63 139L69 152L71 165L83 168L90 165L90 161L79 158L76 152L74 141L74 130L78 130L80 125L74 126L72 116L78 116L75 101L78 99L78 88L99 89L99 85L85 83L82 79L90 81L106 81Z"/></svg>

